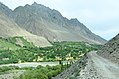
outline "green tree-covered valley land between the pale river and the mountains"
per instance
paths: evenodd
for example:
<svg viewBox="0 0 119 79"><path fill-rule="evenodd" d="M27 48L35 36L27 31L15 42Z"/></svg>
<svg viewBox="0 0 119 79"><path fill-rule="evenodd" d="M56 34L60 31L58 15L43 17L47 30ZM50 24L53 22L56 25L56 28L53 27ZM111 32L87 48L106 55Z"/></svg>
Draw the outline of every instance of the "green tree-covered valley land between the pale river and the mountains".
<svg viewBox="0 0 119 79"><path fill-rule="evenodd" d="M1 38L0 64L78 60L85 53L101 47L100 45L86 42L66 41L52 42L52 45L50 47L35 47L23 37Z"/></svg>

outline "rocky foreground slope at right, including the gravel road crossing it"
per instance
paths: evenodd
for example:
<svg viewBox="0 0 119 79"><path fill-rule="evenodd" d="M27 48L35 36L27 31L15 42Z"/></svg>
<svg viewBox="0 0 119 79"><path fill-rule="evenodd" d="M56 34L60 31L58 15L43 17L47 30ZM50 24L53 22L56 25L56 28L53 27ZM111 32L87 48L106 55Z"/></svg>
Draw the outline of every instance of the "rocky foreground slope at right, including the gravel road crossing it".
<svg viewBox="0 0 119 79"><path fill-rule="evenodd" d="M53 79L118 79L119 34L100 50L85 54Z"/></svg>

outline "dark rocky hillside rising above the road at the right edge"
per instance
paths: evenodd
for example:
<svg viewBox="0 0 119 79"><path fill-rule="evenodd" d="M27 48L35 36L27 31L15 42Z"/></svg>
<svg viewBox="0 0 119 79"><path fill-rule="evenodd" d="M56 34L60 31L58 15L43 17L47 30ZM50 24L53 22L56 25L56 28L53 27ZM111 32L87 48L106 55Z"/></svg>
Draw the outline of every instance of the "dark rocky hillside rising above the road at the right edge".
<svg viewBox="0 0 119 79"><path fill-rule="evenodd" d="M119 34L105 44L102 50L98 51L98 54L119 64Z"/></svg>

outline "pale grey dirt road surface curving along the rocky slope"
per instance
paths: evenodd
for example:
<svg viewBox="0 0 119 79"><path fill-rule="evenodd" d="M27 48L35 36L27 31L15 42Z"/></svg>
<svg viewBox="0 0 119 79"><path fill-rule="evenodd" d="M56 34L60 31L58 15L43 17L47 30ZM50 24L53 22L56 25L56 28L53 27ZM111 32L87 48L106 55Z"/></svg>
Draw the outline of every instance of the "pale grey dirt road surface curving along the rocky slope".
<svg viewBox="0 0 119 79"><path fill-rule="evenodd" d="M97 75L93 79L119 79L119 65L99 56L96 51L90 52L88 58L88 68L95 71L96 74L93 76ZM88 72L90 73L89 70ZM90 73L89 75L92 74Z"/></svg>

